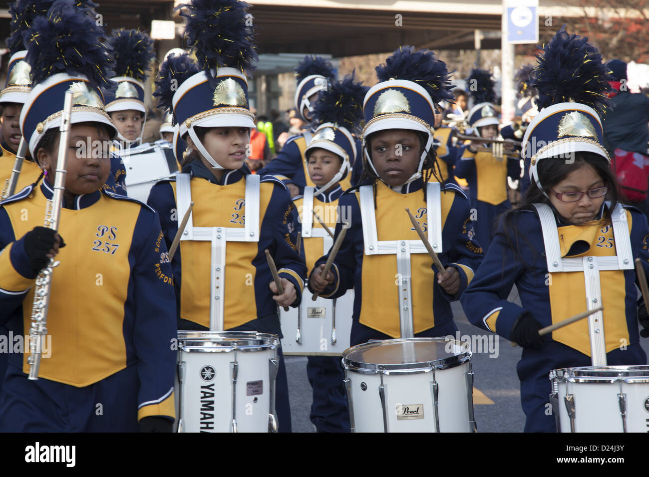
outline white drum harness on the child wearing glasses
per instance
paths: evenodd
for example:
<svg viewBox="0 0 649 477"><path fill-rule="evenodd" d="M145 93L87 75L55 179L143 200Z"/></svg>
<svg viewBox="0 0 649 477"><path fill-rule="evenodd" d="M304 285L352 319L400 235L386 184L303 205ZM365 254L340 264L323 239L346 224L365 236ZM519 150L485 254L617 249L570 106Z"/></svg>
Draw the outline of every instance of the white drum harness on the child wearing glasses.
<svg viewBox="0 0 649 477"><path fill-rule="evenodd" d="M585 256L578 258L561 258L559 232L554 212L546 204L534 204L541 221L543 243L548 272L582 272L586 287L587 310L602 306L602 289L600 270L630 270L633 268L631 240L626 219L626 211L621 204L616 204L611 212L613 239L616 256ZM588 318L588 329L591 337L591 360L593 366L606 366L606 340L604 338L604 313L597 312Z"/></svg>

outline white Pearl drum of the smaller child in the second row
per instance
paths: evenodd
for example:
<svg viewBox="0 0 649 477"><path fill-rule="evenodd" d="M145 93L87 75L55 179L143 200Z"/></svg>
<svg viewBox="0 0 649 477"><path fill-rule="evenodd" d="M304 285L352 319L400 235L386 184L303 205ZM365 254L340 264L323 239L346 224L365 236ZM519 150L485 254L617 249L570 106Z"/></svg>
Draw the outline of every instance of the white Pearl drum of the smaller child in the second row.
<svg viewBox="0 0 649 477"><path fill-rule="evenodd" d="M280 308L282 352L291 356L341 356L349 348L354 290L336 300L318 297L305 286L299 308Z"/></svg>

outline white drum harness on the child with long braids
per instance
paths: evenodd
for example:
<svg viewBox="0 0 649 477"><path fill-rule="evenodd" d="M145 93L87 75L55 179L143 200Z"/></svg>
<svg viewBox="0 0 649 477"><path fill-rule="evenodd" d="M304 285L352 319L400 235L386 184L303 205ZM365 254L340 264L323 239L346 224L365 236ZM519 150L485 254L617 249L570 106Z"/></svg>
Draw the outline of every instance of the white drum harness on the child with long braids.
<svg viewBox="0 0 649 477"><path fill-rule="evenodd" d="M428 182L426 187L428 241L430 241L435 252L441 253L443 250L440 197L441 188L439 182ZM361 186L359 191L365 255L395 254L397 256L397 273L401 280L401 284L398 287L401 337L414 337L412 291L410 286L410 254L428 253L428 250L421 240L379 241L378 233L376 232L373 188L372 186ZM405 210L404 214L406 214Z"/></svg>

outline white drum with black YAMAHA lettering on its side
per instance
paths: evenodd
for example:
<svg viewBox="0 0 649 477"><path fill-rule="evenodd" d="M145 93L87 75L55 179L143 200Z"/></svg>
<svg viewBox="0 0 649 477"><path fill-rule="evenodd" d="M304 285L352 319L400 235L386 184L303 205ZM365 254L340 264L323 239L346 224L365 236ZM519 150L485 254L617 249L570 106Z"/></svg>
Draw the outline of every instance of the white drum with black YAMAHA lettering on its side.
<svg viewBox="0 0 649 477"><path fill-rule="evenodd" d="M256 332L178 332L178 432L276 431L279 339Z"/></svg>

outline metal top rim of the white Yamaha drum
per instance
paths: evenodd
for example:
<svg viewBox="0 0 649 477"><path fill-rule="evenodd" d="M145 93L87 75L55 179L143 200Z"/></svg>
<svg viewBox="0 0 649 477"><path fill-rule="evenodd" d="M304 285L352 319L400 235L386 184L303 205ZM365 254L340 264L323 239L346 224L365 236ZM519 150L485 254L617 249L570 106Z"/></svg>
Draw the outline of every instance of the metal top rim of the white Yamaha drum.
<svg viewBox="0 0 649 477"><path fill-rule="evenodd" d="M225 335L239 341L250 342L253 340L258 343L236 345L234 341L228 341L228 345L201 345L205 341L214 343L219 341L218 337ZM193 344L197 343L197 344ZM186 352L230 352L239 351L259 351L267 349L278 349L280 339L275 334L260 333L255 331L178 331L178 349Z"/></svg>

